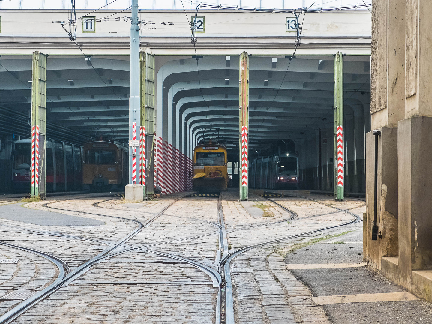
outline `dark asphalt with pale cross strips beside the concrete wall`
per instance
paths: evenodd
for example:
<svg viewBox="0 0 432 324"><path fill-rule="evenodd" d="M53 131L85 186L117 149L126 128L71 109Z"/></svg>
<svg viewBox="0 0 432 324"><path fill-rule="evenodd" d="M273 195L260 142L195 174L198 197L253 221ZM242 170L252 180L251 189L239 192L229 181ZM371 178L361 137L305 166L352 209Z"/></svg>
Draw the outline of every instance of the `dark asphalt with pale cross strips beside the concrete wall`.
<svg viewBox="0 0 432 324"><path fill-rule="evenodd" d="M360 222L355 226L351 228L356 229L354 232L321 241L288 254L286 263L361 263L363 254L362 223ZM367 270L366 267L290 271L298 280L305 283L314 297L405 291L383 276ZM423 300L358 302L324 305L323 307L330 321L335 324L432 323L432 304Z"/></svg>

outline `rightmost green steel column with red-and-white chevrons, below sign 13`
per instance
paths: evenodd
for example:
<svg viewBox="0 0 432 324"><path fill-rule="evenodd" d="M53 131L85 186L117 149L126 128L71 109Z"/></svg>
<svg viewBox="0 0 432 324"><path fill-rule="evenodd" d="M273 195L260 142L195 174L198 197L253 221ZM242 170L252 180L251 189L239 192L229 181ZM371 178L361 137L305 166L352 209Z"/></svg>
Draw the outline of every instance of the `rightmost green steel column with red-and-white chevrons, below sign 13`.
<svg viewBox="0 0 432 324"><path fill-rule="evenodd" d="M334 57L334 198L343 200L345 192L343 156L343 53Z"/></svg>

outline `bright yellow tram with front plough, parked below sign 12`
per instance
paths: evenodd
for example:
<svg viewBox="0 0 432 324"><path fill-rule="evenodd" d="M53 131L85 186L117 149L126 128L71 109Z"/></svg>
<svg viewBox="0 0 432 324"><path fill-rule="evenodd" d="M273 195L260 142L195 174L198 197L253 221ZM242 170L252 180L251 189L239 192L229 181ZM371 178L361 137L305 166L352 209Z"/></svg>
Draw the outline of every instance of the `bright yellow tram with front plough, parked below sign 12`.
<svg viewBox="0 0 432 324"><path fill-rule="evenodd" d="M228 187L226 147L219 144L200 144L194 149L194 191L220 192Z"/></svg>

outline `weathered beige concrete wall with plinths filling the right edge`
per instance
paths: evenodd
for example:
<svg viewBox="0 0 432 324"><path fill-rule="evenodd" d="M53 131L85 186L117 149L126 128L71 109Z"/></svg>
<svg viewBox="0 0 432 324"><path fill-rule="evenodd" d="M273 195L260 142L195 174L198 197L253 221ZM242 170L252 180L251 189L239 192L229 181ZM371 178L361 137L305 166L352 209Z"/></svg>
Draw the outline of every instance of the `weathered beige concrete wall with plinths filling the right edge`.
<svg viewBox="0 0 432 324"><path fill-rule="evenodd" d="M371 240L375 138L366 137L365 258L432 302L432 3L377 0L372 14L372 127L378 140L378 241Z"/></svg>

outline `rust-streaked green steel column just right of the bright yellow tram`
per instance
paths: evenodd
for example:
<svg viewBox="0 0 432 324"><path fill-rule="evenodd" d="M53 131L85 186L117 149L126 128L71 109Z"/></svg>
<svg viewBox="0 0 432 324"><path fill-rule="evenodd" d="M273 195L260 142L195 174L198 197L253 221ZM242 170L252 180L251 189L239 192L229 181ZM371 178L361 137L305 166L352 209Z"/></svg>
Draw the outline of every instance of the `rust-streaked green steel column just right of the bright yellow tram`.
<svg viewBox="0 0 432 324"><path fill-rule="evenodd" d="M240 200L248 200L249 57L240 54Z"/></svg>

